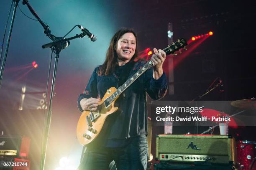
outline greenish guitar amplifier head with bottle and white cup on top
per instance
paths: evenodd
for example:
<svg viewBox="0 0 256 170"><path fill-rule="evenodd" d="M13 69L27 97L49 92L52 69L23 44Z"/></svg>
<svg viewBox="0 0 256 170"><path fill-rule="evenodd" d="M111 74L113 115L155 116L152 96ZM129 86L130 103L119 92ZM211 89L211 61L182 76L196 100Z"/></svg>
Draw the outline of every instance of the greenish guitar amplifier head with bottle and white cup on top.
<svg viewBox="0 0 256 170"><path fill-rule="evenodd" d="M229 135L165 135L156 137L156 161L236 164L236 141Z"/></svg>

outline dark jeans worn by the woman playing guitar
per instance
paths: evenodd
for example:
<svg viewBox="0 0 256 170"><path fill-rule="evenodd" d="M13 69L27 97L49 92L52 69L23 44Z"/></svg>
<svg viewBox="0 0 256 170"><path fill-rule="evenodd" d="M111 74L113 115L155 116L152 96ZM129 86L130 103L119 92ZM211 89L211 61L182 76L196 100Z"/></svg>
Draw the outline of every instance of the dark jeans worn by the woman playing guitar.
<svg viewBox="0 0 256 170"><path fill-rule="evenodd" d="M134 137L125 147L87 147L78 170L109 170L109 164L113 160L117 170L146 170L146 135Z"/></svg>

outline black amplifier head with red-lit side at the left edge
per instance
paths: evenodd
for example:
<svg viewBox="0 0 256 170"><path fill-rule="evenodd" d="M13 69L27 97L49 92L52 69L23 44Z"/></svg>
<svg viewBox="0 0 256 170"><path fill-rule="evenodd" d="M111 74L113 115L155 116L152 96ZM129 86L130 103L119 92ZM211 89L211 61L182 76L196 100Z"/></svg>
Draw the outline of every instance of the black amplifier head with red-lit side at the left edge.
<svg viewBox="0 0 256 170"><path fill-rule="evenodd" d="M30 138L15 135L0 136L0 155L28 157Z"/></svg>

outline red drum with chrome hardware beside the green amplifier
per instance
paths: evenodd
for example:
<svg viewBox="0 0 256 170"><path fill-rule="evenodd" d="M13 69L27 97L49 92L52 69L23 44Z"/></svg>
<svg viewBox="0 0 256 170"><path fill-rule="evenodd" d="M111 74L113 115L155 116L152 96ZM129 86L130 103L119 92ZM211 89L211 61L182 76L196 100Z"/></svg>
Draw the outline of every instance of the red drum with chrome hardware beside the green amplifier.
<svg viewBox="0 0 256 170"><path fill-rule="evenodd" d="M239 141L237 144L238 170L256 170L256 141Z"/></svg>

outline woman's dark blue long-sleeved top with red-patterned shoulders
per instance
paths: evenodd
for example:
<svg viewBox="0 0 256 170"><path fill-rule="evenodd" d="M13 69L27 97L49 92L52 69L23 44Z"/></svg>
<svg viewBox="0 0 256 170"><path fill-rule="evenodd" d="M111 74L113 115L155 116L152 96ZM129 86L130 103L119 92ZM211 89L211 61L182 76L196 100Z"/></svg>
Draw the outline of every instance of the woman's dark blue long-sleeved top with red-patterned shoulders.
<svg viewBox="0 0 256 170"><path fill-rule="evenodd" d="M130 72L130 76L136 73L146 61L137 61ZM82 112L80 106L81 99L97 98L104 96L107 89L110 87L117 88L118 78L124 66L117 66L115 72L108 76L99 76L98 70L100 66L96 67L92 76L84 90L83 94L79 95L77 104L79 110ZM119 107L123 112L118 114L115 121L108 129L108 137L106 140L113 139L127 139L129 137L136 137L138 135L147 134L147 101L146 92L154 100L159 100L166 94L167 79L163 74L158 80L153 78L153 68L148 69L136 81L131 84L121 95Z"/></svg>

